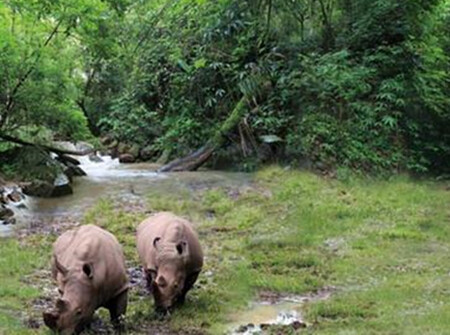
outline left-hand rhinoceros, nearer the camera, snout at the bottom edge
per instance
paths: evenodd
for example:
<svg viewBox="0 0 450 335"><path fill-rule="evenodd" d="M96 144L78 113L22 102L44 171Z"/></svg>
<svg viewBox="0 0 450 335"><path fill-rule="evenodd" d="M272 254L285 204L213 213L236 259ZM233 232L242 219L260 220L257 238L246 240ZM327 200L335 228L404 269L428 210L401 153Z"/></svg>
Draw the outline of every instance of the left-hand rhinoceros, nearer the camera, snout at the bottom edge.
<svg viewBox="0 0 450 335"><path fill-rule="evenodd" d="M61 297L44 312L45 324L62 334L78 333L99 307L120 326L127 309L128 278L122 247L111 233L86 225L62 234L53 244L52 277Z"/></svg>

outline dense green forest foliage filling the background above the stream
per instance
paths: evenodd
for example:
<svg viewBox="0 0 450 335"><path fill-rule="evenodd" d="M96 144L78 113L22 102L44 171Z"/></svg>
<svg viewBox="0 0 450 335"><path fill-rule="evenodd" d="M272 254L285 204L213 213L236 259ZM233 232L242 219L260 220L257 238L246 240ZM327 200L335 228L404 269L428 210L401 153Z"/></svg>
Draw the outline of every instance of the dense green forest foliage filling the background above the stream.
<svg viewBox="0 0 450 335"><path fill-rule="evenodd" d="M0 135L448 173L449 57L448 0L4 0Z"/></svg>

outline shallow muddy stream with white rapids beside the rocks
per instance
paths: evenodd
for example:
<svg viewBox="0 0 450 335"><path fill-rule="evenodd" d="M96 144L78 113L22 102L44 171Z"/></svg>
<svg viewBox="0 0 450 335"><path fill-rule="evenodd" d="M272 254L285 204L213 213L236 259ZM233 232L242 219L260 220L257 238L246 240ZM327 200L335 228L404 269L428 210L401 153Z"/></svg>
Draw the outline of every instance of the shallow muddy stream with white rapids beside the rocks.
<svg viewBox="0 0 450 335"><path fill-rule="evenodd" d="M92 162L87 156L77 157L87 176L74 178L74 193L59 198L27 197L26 209L15 209L17 223L69 216L79 218L102 197L140 200L149 192L173 194L202 186L239 186L249 178L245 173L221 171L162 174L155 172L157 166L152 163L120 164L109 156L101 158L102 162ZM1 229L5 233L10 228L2 226Z"/></svg>

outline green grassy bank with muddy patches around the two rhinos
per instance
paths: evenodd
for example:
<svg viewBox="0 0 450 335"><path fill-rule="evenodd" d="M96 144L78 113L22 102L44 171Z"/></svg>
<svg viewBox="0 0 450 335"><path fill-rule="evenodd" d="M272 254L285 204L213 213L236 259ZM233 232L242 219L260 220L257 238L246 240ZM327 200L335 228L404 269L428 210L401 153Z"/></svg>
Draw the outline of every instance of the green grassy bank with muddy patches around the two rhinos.
<svg viewBox="0 0 450 335"><path fill-rule="evenodd" d="M302 294L333 286L330 299L305 306L310 332L448 333L449 204L448 184L401 176L339 182L277 167L257 173L250 187L149 194L144 210L171 210L197 224L206 262L170 321L157 320L150 299L133 291L130 332L157 325L221 333L261 290ZM114 232L137 266L134 231L144 210L102 200L84 223ZM53 239L0 242L0 334L44 332L27 330L21 318L42 294L29 274L47 266Z"/></svg>

